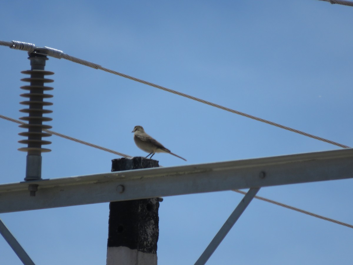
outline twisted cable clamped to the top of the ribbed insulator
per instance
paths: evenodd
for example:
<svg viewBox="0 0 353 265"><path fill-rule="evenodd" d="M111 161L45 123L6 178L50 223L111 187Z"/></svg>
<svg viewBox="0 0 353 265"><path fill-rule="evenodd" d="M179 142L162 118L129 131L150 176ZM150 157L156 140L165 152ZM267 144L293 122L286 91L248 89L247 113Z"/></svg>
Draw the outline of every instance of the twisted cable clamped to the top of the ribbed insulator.
<svg viewBox="0 0 353 265"><path fill-rule="evenodd" d="M220 108L222 110L229 111L229 112L232 112L232 113L235 113L235 114L238 114L238 115L250 118L250 119L254 119L254 120L257 120L259 122L267 123L267 124L279 127L281 129L292 131L294 133L301 134L301 135L304 135L304 136L307 136L307 137L311 137L313 139L316 139L316 140L319 140L319 141L323 141L323 142L327 142L327 143L330 143L332 145L336 145L336 146L339 146L339 147L342 147L342 148L349 148L349 146L342 145L341 143L337 143L337 142L334 142L334 141L331 141L331 140L328 140L328 139L325 139L325 138L322 138L322 137L319 137L319 136L308 134L308 133L305 133L305 132L297 130L297 129L293 129L293 128L288 127L288 126L281 125L279 123L275 123L275 122L271 122L271 121L266 120L266 119L258 118L258 117L252 116L252 115L244 113L244 112L233 110L231 108L224 107L224 106L221 106L219 104L215 104L215 103L207 101L207 100L199 99L199 98L196 98L194 96L191 96L191 95L188 95L188 94L185 94L185 93L181 93L181 92L178 92L178 91L173 90L173 89L162 87L162 86L159 86L157 84L154 84L154 83L151 83L151 82L148 82L148 81L144 81L144 80L136 78L136 77L132 77L132 76L126 75L124 73L120 73L120 72L117 72L117 71L114 71L114 70L107 69L105 67L102 67L101 65L98 65L98 64L95 64L95 63L91 63L89 61L82 60L82 59L73 57L71 55L65 54L64 52L62 52L60 50L57 50L57 49L53 49L53 48L49 48L49 47L39 48L39 47L35 47L34 44L26 43L26 42L19 42L19 41L12 41L12 42L0 41L0 45L4 45L4 46L8 46L8 47L13 48L13 49L20 49L20 50L28 51L28 52L33 52L33 51L34 52L38 52L38 53L43 53L44 52L46 55L49 55L49 56L52 56L52 57L55 57L55 58L58 58L58 59L64 58L64 59L70 60L70 61L72 61L74 63L82 64L82 65L85 65L85 66L89 66L89 67L92 67L94 69L100 69L100 70L103 70L103 71L106 71L106 72L109 72L109 73L113 73L114 75L125 77L125 78L128 78L130 80L133 80L133 81L136 81L136 82L139 82L139 83L143 83L143 84L146 84L148 86L155 87L155 88L158 88L158 89L161 89L161 90L164 90L164 91L167 91L167 92L179 95L179 96L183 96L185 98L189 98L189 99L192 99L192 100L195 100L195 101L198 101L198 102L201 102L201 103L204 103L204 104L216 107L216 108Z"/></svg>

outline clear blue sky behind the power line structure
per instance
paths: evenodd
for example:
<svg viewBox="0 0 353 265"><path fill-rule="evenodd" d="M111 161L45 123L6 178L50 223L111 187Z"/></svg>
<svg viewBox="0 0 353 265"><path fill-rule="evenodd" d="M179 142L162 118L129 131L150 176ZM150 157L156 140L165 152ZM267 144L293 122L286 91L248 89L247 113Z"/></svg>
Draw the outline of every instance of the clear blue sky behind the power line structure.
<svg viewBox="0 0 353 265"><path fill-rule="evenodd" d="M48 46L103 67L353 146L353 8L298 1L7 1L1 40ZM6 23L5 23L6 22ZM0 47L0 114L19 118L23 51ZM338 147L100 70L50 58L48 124L132 156L131 130L187 162L316 152ZM0 120L0 183L24 178L24 129ZM43 178L109 172L116 155L57 136ZM353 224L352 179L263 188L258 195ZM193 264L242 195L166 197L158 264ZM1 202L2 203L2 202ZM108 204L0 214L36 264L105 264ZM352 231L254 200L207 264L351 264ZM0 238L0 263L21 264Z"/></svg>

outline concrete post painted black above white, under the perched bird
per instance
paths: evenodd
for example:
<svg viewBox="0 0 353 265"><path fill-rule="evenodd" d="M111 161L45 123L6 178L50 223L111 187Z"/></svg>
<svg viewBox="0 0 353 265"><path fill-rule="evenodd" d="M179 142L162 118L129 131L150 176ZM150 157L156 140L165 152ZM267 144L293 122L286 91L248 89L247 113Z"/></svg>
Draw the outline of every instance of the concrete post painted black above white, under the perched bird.
<svg viewBox="0 0 353 265"><path fill-rule="evenodd" d="M158 161L112 160L112 171L150 167L158 167ZM157 265L158 208L157 198L110 202L107 265Z"/></svg>

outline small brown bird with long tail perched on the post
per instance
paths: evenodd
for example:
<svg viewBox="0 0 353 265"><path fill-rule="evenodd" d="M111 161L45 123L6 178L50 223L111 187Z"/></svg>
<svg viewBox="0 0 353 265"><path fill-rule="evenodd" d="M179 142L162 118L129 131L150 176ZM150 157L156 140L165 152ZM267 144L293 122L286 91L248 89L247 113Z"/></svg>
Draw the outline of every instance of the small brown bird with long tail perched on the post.
<svg viewBox="0 0 353 265"><path fill-rule="evenodd" d="M135 141L136 146L141 150L149 153L146 156L146 158L148 158L149 155L151 155L150 157L151 159L155 153L169 153L171 155L174 155L175 157L179 157L179 155L176 155L170 152L170 150L165 148L160 142L156 141L154 138L146 134L142 126L140 125L135 126L131 133L134 133L133 140ZM179 158L186 161L185 158L182 158L182 157L179 157Z"/></svg>

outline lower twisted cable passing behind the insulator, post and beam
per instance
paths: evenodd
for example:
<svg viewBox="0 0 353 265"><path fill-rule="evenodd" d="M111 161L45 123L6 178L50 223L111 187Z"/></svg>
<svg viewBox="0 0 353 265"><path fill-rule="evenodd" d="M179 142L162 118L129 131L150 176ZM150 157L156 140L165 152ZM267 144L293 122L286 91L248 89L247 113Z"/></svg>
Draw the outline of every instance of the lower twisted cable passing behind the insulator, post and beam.
<svg viewBox="0 0 353 265"><path fill-rule="evenodd" d="M4 116L4 115L0 115L0 118L8 120L10 122L24 124L24 122L21 122L20 120L12 119L12 118ZM82 143L84 145L88 145L88 146L91 146L91 147L94 147L94 148L98 148L100 150L103 150L103 151L106 151L106 152L109 152L109 153L120 155L121 157L132 158L130 155L122 154L122 153L113 151L113 150L108 149L108 148L104 148L104 147L101 147L101 146L98 146L98 145L94 145L93 143L85 142L85 141L82 141L82 140L79 140L79 139L76 139L76 138L73 138L73 137L70 137L70 136L67 136L67 135L64 135L64 134L56 133L55 131L50 131L50 130L44 130L44 131L46 131L46 132L48 132L50 134L54 134L54 135L59 136L59 137L63 137L65 139L68 139L68 140L71 140L71 141L75 141L75 142L78 142L78 143ZM243 192L241 190L233 190L233 191L241 193L241 194L246 194L246 192ZM273 200L266 199L266 198L259 197L259 196L255 196L255 198L259 199L259 200L266 201L266 202L270 202L270 203L273 203L275 205L279 205L279 206L282 206L282 207L285 207L285 208L288 208L288 209L291 209L291 210L294 210L294 211L297 211L297 212L305 213L305 214L308 214L310 216L313 216L313 217L316 217L316 218L320 218L320 219L323 219L323 220L326 220L326 221L329 221L329 222L333 222L333 223L336 223L336 224L347 226L349 228L353 228L353 225L346 224L346 223L343 223L343 222L340 222L340 221L337 221L337 220L334 220L334 219L331 219L331 218L323 217L323 216L320 216L320 215L315 214L315 213L307 212L307 211L301 210L299 208L295 208L295 207L292 207L292 206L289 206L289 205L286 205L286 204L282 204L281 202L273 201Z"/></svg>

